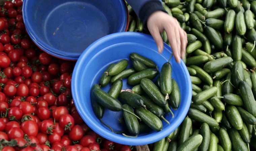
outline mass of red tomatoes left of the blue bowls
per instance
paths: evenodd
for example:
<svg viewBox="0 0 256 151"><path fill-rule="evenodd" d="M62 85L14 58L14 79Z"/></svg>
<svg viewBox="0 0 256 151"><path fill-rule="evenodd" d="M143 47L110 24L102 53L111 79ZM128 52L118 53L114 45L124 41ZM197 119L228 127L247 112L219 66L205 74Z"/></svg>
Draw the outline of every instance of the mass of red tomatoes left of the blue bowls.
<svg viewBox="0 0 256 151"><path fill-rule="evenodd" d="M0 150L130 151L90 130L71 95L75 62L39 50L26 33L22 0L0 11Z"/></svg>

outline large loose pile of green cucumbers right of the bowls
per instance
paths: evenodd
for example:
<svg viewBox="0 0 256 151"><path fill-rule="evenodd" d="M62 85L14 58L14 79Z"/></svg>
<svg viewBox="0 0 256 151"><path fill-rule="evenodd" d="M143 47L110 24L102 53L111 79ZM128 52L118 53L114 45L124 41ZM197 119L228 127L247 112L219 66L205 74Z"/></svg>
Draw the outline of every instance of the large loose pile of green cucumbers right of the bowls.
<svg viewBox="0 0 256 151"><path fill-rule="evenodd" d="M187 32L193 96L183 123L153 150L256 150L256 1L162 1Z"/></svg>

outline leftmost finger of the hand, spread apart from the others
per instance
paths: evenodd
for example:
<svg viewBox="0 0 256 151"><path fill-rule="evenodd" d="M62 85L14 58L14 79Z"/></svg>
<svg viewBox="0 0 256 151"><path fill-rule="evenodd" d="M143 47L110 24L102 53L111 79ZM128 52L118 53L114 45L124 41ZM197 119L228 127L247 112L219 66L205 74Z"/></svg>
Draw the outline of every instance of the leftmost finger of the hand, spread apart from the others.
<svg viewBox="0 0 256 151"><path fill-rule="evenodd" d="M154 27L154 28L149 29L149 31L156 42L158 52L162 53L163 47L164 47L164 42L163 42L162 36L160 35L159 29L157 27Z"/></svg>

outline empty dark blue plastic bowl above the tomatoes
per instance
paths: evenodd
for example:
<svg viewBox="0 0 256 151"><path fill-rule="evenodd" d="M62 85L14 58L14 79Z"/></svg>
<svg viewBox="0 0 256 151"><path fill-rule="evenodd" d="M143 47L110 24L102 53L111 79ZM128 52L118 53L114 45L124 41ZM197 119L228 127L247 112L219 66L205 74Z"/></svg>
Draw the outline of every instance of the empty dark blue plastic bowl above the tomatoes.
<svg viewBox="0 0 256 151"><path fill-rule="evenodd" d="M77 60L94 41L127 31L124 0L24 0L27 32L43 51Z"/></svg>

